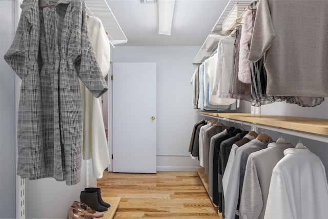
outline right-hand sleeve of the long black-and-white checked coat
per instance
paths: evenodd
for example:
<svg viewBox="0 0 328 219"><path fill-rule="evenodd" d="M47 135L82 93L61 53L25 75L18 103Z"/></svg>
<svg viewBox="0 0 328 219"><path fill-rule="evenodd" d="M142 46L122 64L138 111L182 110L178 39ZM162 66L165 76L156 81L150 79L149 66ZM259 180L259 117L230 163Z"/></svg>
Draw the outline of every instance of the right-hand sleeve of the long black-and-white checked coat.
<svg viewBox="0 0 328 219"><path fill-rule="evenodd" d="M75 59L75 68L81 82L83 82L83 84L95 97L99 97L108 90L108 87L99 68L99 64L91 44L86 21L87 14L84 1L81 1L81 4L83 4L81 7L81 35L78 39L80 41L78 42L80 54Z"/></svg>

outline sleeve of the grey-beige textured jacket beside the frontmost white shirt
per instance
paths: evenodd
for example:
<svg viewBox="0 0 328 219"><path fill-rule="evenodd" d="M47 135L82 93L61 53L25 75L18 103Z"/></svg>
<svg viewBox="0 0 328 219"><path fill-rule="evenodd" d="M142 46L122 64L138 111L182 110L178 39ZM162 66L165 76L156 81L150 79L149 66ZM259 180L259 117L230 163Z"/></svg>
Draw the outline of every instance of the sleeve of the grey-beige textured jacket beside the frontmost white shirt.
<svg viewBox="0 0 328 219"><path fill-rule="evenodd" d="M239 217L242 219L259 218L263 208L261 186L252 154L249 156L243 181Z"/></svg>

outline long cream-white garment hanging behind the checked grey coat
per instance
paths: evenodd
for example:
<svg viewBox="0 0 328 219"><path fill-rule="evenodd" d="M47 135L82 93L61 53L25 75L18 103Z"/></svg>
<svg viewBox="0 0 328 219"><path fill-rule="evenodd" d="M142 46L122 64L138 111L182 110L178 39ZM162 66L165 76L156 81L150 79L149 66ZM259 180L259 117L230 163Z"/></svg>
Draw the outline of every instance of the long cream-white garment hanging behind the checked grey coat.
<svg viewBox="0 0 328 219"><path fill-rule="evenodd" d="M93 50L104 77L110 68L110 43L101 21L89 16L88 30ZM83 108L83 159L92 159L93 175L103 177L104 170L110 165L101 99L95 98L80 81Z"/></svg>

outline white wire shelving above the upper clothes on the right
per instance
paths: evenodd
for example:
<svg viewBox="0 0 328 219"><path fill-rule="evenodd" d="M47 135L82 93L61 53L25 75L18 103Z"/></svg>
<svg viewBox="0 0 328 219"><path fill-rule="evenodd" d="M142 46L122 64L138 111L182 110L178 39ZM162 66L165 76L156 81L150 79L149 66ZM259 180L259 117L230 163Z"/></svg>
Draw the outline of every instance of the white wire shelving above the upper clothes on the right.
<svg viewBox="0 0 328 219"><path fill-rule="evenodd" d="M196 57L194 58L193 65L200 65L208 57L210 57L217 49L217 45L222 38L231 33L236 27L236 20L241 18L245 9L252 3L252 0L230 0L226 8L224 8L218 21L213 27L212 31L206 38L206 41L201 46Z"/></svg>

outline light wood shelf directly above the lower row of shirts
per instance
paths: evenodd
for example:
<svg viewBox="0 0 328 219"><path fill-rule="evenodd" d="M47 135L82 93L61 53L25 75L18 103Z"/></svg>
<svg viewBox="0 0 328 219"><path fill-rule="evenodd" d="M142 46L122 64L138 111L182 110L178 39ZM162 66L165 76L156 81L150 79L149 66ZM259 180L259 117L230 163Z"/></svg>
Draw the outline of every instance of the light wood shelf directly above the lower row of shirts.
<svg viewBox="0 0 328 219"><path fill-rule="evenodd" d="M197 111L197 113L230 118L231 120L239 120L249 123L256 123L261 125L291 129L295 131L328 135L328 119L324 119L324 118L251 114L251 113L213 112L213 111L212 112Z"/></svg>

